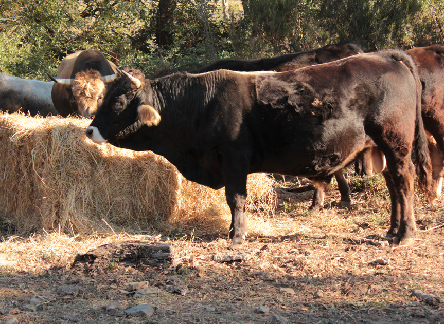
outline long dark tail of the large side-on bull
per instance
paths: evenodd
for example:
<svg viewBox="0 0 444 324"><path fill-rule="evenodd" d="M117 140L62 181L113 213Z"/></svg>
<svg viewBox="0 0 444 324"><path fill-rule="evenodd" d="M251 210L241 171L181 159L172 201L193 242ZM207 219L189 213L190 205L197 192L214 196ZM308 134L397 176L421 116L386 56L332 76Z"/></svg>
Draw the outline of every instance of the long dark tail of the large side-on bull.
<svg viewBox="0 0 444 324"><path fill-rule="evenodd" d="M413 62L409 68L416 82L416 123L414 141L416 175L418 176L418 184L421 192L427 197L429 203L433 205L432 201L436 196L436 192L432 179L432 162L429 154L429 142L425 137L424 124L422 123L421 116L422 85Z"/></svg>

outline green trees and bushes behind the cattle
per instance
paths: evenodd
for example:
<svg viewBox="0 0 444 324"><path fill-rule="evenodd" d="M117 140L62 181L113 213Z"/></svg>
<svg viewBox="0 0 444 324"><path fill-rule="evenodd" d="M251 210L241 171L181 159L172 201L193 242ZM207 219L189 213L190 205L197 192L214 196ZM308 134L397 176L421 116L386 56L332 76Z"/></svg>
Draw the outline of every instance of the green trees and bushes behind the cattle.
<svg viewBox="0 0 444 324"><path fill-rule="evenodd" d="M444 43L444 0L0 0L0 72L46 80L96 48L118 66L192 70L352 42Z"/></svg>

